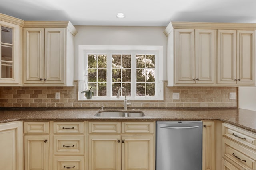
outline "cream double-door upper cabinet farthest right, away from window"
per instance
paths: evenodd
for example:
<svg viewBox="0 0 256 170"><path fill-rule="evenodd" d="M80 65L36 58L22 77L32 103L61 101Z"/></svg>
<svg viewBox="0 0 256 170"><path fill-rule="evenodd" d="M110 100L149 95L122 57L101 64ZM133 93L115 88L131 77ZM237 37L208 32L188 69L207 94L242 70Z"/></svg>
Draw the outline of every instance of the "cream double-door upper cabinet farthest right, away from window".
<svg viewBox="0 0 256 170"><path fill-rule="evenodd" d="M255 31L218 30L218 84L255 84Z"/></svg>

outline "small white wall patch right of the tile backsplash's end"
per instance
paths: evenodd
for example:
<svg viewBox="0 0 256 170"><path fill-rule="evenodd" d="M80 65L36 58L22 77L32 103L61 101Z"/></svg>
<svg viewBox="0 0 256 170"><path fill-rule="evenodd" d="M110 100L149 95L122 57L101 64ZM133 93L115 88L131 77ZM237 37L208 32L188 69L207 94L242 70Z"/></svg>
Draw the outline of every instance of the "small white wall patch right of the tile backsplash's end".
<svg viewBox="0 0 256 170"><path fill-rule="evenodd" d="M239 108L256 111L256 87L239 87Z"/></svg>

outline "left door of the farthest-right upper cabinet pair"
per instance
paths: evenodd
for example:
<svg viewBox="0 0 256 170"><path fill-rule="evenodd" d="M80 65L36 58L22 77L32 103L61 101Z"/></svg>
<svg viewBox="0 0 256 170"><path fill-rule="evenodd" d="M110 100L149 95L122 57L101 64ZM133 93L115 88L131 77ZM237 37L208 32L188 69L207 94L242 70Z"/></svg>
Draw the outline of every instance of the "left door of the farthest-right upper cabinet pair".
<svg viewBox="0 0 256 170"><path fill-rule="evenodd" d="M236 30L218 30L218 84L236 84Z"/></svg>

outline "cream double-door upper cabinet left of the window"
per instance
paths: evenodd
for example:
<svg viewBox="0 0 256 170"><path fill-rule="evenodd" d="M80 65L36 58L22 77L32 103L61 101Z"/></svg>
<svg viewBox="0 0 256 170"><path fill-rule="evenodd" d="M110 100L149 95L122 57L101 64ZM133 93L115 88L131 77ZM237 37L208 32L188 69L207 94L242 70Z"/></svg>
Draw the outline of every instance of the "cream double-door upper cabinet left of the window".
<svg viewBox="0 0 256 170"><path fill-rule="evenodd" d="M57 24L25 22L24 86L73 86L76 30L70 22Z"/></svg>

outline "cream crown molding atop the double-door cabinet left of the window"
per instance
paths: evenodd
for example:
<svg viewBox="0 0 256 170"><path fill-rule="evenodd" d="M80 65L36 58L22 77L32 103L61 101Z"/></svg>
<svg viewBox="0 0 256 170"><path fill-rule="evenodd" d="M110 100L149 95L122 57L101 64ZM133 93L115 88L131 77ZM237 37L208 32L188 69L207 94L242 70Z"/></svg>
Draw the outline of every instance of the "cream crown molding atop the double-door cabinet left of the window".
<svg viewBox="0 0 256 170"><path fill-rule="evenodd" d="M24 28L67 28L74 36L77 33L70 21L25 21Z"/></svg>

